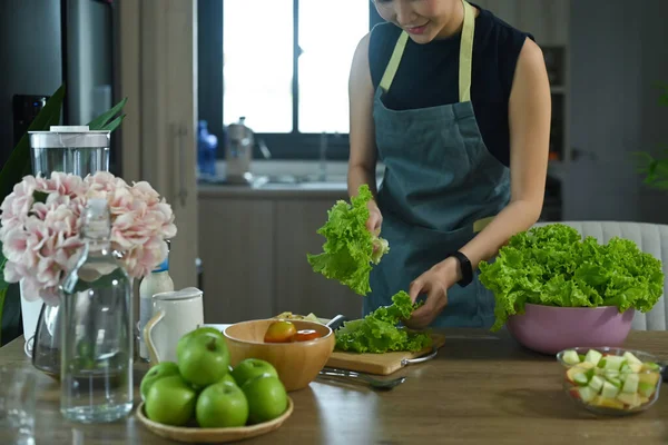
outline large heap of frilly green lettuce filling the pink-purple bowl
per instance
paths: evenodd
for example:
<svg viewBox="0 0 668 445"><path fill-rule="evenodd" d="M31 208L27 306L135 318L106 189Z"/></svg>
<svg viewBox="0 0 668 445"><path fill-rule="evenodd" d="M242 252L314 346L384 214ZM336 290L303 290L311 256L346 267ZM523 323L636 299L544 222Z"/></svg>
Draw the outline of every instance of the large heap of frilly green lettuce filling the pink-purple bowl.
<svg viewBox="0 0 668 445"><path fill-rule="evenodd" d="M616 306L650 310L664 294L661 261L629 240L601 245L572 227L551 224L514 235L480 281L494 294L499 330L527 303L560 307Z"/></svg>

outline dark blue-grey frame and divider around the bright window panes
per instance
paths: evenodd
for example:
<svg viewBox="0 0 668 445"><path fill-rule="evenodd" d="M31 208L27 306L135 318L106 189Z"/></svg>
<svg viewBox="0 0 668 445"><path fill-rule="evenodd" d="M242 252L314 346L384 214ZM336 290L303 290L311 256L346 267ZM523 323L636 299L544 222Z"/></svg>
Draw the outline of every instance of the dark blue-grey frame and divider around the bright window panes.
<svg viewBox="0 0 668 445"><path fill-rule="evenodd" d="M298 131L299 121L299 0L293 0L294 29L293 29L293 130L287 134L256 134L256 138L265 142L272 159L282 160L315 160L320 159L321 134L305 134ZM217 4L216 4L217 3ZM217 157L224 158L222 137L224 135L224 107L223 107L223 51L225 40L223 38L224 0L198 0L199 21L199 50L198 50L198 77L206 79L199 88L199 117L208 122L209 132L216 135L219 141ZM369 29L384 20L379 16L373 2L369 2ZM216 48L219 42L219 48ZM216 58L219 59L216 60ZM219 87L217 87L219 86ZM350 154L348 134L327 135L326 158L328 160L347 160ZM253 154L254 159L264 159L258 147Z"/></svg>

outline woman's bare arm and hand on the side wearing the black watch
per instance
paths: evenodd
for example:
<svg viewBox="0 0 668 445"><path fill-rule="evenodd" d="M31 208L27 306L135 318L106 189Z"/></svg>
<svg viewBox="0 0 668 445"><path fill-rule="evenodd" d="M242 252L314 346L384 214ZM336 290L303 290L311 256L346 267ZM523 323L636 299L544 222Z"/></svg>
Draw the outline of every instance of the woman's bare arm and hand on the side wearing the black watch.
<svg viewBox="0 0 668 445"><path fill-rule="evenodd" d="M509 100L510 204L460 249L475 269L492 258L510 237L530 228L540 217L548 169L551 98L542 51L527 39L515 68ZM448 304L448 289L462 278L459 261L448 258L411 283L413 300L428 294L424 306L406 324L425 327Z"/></svg>

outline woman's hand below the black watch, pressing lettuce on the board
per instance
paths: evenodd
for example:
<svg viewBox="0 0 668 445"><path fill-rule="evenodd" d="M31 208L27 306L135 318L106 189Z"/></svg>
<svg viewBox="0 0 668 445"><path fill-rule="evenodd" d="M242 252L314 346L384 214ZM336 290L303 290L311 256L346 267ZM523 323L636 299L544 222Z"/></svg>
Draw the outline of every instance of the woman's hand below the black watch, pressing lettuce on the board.
<svg viewBox="0 0 668 445"><path fill-rule="evenodd" d="M426 301L404 320L411 329L423 329L448 306L448 289L459 280L459 263L455 258L448 258L419 276L409 289L411 300L421 294L426 294Z"/></svg>

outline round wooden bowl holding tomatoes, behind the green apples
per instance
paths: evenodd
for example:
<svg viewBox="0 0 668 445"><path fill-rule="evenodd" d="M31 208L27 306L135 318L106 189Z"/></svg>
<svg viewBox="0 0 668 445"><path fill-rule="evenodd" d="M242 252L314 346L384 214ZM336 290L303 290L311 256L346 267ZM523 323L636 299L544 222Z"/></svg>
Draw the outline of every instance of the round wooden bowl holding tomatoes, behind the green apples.
<svg viewBox="0 0 668 445"><path fill-rule="evenodd" d="M259 358L276 368L286 390L305 388L317 377L334 352L334 333L320 323L291 320L297 330L314 329L321 337L308 342L264 343L267 327L274 322L276 319L259 319L228 326L224 335L230 364L236 366L246 358Z"/></svg>

